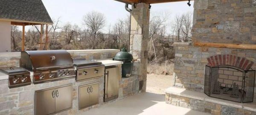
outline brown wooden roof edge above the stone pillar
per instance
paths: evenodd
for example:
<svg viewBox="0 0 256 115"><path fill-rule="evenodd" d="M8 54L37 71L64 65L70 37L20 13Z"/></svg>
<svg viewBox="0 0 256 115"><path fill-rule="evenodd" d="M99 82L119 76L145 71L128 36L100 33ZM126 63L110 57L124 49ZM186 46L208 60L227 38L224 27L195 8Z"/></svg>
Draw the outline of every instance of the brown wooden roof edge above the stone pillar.
<svg viewBox="0 0 256 115"><path fill-rule="evenodd" d="M188 0L116 0L122 3L148 3L148 4L154 4L154 3L170 3L170 2L180 2L180 1L188 1Z"/></svg>

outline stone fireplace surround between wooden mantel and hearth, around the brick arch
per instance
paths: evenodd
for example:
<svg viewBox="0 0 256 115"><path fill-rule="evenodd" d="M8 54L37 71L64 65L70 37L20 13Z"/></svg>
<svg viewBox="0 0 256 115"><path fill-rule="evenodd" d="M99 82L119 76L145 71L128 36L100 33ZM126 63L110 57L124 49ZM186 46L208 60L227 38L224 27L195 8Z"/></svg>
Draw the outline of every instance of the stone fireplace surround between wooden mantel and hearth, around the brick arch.
<svg viewBox="0 0 256 115"><path fill-rule="evenodd" d="M175 86L203 92L207 58L225 54L256 62L256 50L196 47L191 43L175 43ZM251 68L255 70L256 64Z"/></svg>

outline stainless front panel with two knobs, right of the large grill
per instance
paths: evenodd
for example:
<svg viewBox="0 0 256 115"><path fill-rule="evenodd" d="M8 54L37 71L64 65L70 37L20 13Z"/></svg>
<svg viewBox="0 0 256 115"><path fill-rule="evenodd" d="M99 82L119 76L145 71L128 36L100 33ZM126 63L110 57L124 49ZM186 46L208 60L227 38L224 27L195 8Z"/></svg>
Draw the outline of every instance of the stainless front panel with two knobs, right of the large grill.
<svg viewBox="0 0 256 115"><path fill-rule="evenodd" d="M96 78L104 75L104 67L80 69L77 71L76 80L85 80Z"/></svg>

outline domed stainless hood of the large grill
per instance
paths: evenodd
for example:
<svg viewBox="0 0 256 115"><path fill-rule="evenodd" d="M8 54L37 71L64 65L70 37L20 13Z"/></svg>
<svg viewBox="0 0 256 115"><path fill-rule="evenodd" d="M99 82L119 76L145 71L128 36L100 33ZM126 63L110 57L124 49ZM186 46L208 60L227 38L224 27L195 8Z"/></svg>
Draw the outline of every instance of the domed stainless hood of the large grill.
<svg viewBox="0 0 256 115"><path fill-rule="evenodd" d="M66 50L22 51L20 67L31 71L73 67L71 55Z"/></svg>

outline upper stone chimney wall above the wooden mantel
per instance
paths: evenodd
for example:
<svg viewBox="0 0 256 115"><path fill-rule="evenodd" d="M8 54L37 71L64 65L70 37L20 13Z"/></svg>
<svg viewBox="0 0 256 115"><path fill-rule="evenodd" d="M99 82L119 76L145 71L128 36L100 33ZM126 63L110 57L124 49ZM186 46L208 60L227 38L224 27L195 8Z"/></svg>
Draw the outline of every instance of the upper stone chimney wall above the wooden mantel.
<svg viewBox="0 0 256 115"><path fill-rule="evenodd" d="M195 0L193 42L256 43L255 0Z"/></svg>

